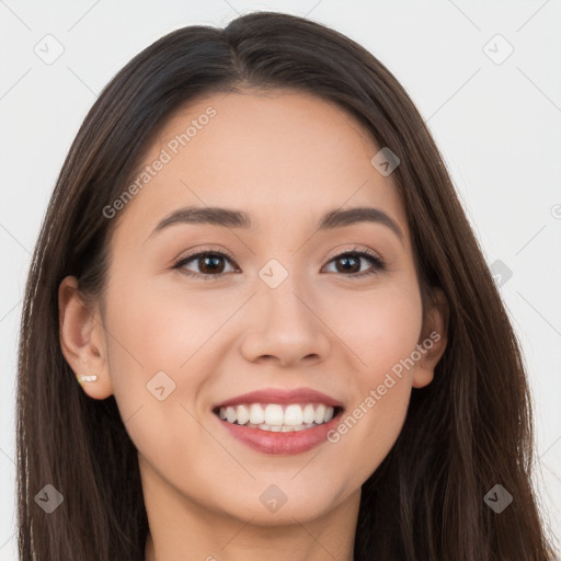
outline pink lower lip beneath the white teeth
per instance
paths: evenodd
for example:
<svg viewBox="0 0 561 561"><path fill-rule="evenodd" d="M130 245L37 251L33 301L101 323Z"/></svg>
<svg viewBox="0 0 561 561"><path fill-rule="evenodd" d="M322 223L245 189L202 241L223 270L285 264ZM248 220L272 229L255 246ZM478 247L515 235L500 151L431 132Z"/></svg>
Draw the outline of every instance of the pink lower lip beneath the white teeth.
<svg viewBox="0 0 561 561"><path fill-rule="evenodd" d="M234 425L217 415L214 416L234 438L250 448L263 454L289 455L311 450L319 444L327 442L327 434L339 424L341 414L342 411L328 423L289 433L274 433L244 425Z"/></svg>

